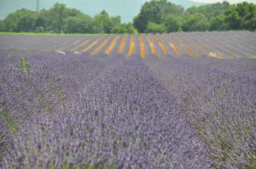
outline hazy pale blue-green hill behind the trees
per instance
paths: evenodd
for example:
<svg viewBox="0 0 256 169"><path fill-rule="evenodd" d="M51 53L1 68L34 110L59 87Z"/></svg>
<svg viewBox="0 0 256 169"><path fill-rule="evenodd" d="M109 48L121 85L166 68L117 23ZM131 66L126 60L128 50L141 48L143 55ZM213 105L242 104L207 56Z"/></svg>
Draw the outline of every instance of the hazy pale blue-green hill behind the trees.
<svg viewBox="0 0 256 169"><path fill-rule="evenodd" d="M120 15L122 22L129 22L140 12L141 5L147 0L44 0L40 1L40 8L49 9L56 2L65 3L68 8L79 9L90 16L105 9L111 16ZM189 0L170 0L170 2L182 5L185 9L205 4ZM35 9L35 0L0 1L0 19L5 19L9 13L22 8Z"/></svg>

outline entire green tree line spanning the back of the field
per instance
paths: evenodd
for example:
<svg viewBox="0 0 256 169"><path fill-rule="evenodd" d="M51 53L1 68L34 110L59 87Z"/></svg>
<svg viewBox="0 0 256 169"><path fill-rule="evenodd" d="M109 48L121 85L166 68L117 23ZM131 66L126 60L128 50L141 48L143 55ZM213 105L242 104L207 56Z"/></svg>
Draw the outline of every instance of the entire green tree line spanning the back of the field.
<svg viewBox="0 0 256 169"><path fill-rule="evenodd" d="M121 23L120 16L103 10L94 17L55 3L40 12L21 9L0 20L0 31L50 32L66 34L135 34L191 31L256 30L256 5L243 2L212 3L184 10L167 0L152 0L141 6L133 23Z"/></svg>

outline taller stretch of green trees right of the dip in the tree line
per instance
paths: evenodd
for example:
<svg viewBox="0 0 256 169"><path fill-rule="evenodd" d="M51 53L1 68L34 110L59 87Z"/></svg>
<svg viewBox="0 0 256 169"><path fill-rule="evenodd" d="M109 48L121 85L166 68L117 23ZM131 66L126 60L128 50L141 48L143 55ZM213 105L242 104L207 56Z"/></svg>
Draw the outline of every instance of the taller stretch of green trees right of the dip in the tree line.
<svg viewBox="0 0 256 169"><path fill-rule="evenodd" d="M159 9L159 6L165 8ZM255 31L255 16L256 5L248 2L230 5L223 1L183 11L180 6L159 0L146 2L141 7L140 13L134 17L134 27L139 32Z"/></svg>

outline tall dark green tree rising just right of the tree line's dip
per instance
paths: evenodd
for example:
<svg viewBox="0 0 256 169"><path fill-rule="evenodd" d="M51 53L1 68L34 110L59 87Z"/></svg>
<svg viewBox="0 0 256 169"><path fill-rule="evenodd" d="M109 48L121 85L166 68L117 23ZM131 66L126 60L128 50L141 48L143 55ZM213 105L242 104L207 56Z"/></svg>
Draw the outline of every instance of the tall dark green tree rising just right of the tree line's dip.
<svg viewBox="0 0 256 169"><path fill-rule="evenodd" d="M140 13L133 19L133 25L138 32L144 32L148 23L162 24L168 14L181 16L184 12L182 6L177 6L167 0L152 0L145 2L140 9Z"/></svg>

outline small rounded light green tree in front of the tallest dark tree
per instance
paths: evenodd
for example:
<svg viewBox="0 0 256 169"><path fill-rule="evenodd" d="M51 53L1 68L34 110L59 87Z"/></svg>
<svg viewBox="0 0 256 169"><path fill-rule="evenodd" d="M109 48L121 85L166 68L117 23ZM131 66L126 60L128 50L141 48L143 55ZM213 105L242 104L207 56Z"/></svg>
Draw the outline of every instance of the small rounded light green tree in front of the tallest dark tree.
<svg viewBox="0 0 256 169"><path fill-rule="evenodd" d="M177 32L180 30L181 19L173 14L168 14L163 20L167 32Z"/></svg>

